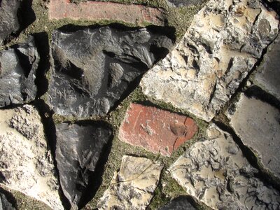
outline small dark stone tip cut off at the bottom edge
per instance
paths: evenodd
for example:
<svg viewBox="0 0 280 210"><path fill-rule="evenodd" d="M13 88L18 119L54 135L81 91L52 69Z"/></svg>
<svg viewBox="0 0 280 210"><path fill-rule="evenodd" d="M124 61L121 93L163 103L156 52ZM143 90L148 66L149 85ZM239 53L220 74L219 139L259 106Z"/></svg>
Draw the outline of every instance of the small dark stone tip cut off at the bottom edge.
<svg viewBox="0 0 280 210"><path fill-rule="evenodd" d="M160 210L195 210L192 204L190 204L188 197L180 196L176 197L169 204L162 207Z"/></svg>

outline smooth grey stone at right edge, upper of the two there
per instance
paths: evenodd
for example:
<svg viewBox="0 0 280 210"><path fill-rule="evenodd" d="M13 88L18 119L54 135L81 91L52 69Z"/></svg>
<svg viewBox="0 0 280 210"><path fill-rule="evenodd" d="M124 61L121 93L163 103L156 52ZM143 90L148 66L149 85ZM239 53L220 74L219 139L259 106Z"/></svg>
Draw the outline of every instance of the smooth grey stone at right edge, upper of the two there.
<svg viewBox="0 0 280 210"><path fill-rule="evenodd" d="M253 76L256 85L280 100L280 36L269 45L262 64Z"/></svg>

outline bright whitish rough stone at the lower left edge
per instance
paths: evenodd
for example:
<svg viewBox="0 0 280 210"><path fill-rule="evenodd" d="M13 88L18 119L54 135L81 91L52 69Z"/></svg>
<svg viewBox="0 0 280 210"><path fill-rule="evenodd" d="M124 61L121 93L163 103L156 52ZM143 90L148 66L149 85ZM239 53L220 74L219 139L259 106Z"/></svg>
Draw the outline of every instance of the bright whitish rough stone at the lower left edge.
<svg viewBox="0 0 280 210"><path fill-rule="evenodd" d="M41 118L34 106L0 111L0 183L64 209Z"/></svg>

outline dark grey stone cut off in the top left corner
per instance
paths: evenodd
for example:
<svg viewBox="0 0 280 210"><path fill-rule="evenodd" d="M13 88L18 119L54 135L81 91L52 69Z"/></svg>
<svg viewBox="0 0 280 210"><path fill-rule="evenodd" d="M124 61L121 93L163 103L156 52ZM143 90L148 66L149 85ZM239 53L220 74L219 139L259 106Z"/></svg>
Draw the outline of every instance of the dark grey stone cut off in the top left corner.
<svg viewBox="0 0 280 210"><path fill-rule="evenodd" d="M20 29L18 8L20 8L18 0L0 1L0 44Z"/></svg>

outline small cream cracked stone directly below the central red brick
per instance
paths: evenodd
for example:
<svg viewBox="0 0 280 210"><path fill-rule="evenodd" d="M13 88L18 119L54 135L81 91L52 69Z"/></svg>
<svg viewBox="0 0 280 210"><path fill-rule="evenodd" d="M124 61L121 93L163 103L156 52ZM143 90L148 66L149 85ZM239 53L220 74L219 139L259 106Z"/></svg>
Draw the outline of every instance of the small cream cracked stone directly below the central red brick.
<svg viewBox="0 0 280 210"><path fill-rule="evenodd" d="M120 171L100 199L98 209L144 210L153 198L163 166L147 158L123 156Z"/></svg>

